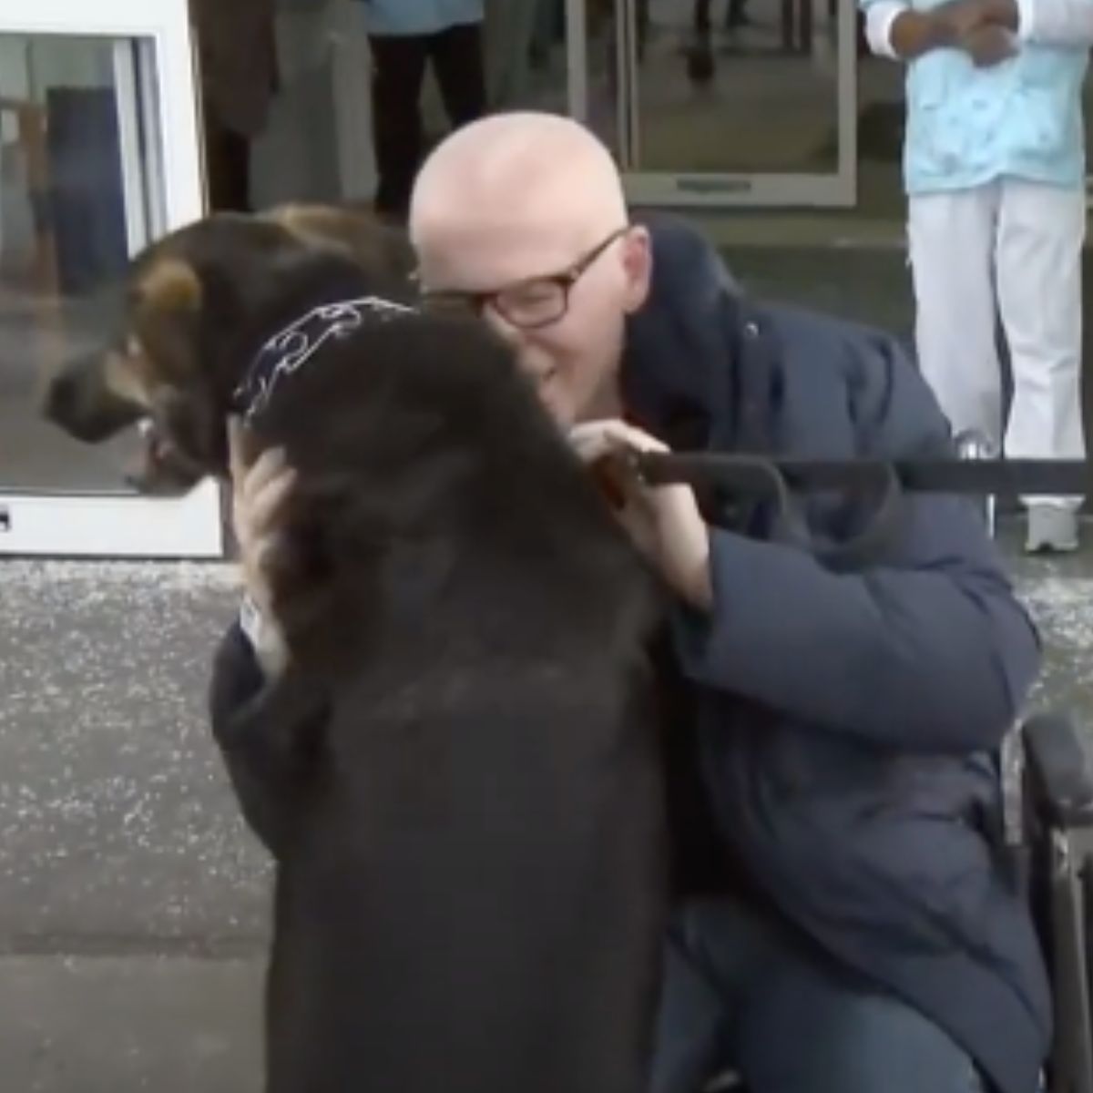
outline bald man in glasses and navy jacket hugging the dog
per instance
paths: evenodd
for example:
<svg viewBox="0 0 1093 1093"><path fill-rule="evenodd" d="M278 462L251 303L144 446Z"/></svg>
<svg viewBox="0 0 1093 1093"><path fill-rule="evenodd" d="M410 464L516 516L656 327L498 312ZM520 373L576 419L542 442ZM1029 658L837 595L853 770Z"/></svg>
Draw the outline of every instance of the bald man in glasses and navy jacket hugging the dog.
<svg viewBox="0 0 1093 1093"><path fill-rule="evenodd" d="M584 459L951 453L895 341L745 298L693 231L628 214L571 120L460 130L423 166L410 226L425 305L507 339ZM259 601L287 490L273 458L237 482ZM1035 632L959 498L908 497L872 541L865 498L798 515L625 483L620 519L678 597L660 667L683 700L651 1089L698 1093L732 1068L750 1093L1033 1093L1048 988L990 844L990 753L1035 677ZM256 657L278 665L275 620L249 630L220 658L237 701Z"/></svg>

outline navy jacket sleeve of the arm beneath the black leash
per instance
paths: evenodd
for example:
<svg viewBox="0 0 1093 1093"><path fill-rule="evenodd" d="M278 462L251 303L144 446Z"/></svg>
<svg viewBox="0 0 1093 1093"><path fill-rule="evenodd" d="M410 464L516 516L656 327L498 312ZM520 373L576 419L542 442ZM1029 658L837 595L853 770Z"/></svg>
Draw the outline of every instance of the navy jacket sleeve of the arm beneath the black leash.
<svg viewBox="0 0 1093 1093"><path fill-rule="evenodd" d="M891 455L922 450L924 433L927 448L948 446L932 396L895 343L874 339L866 354L884 379L859 438L875 445L879 431ZM679 620L687 673L880 747L995 747L1035 680L1037 634L966 498L905 495L904 506L882 563L849 574L799 546L712 530L714 609Z"/></svg>

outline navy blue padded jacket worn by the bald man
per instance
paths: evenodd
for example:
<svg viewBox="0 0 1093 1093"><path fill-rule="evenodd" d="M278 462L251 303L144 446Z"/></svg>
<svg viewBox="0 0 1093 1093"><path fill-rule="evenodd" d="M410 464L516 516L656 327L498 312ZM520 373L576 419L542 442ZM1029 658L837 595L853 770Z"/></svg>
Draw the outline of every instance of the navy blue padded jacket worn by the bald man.
<svg viewBox="0 0 1093 1093"><path fill-rule="evenodd" d="M948 455L894 339L744 299L717 255L654 222L651 297L623 364L637 423L673 446L813 457ZM819 550L860 498L802 509ZM1039 659L966 500L907 497L865 568L779 541L762 505L712 513L709 616L675 636L726 849L846 965L944 1027L1002 1093L1033 1093L1050 1037L1030 915L992 842L991 760Z"/></svg>

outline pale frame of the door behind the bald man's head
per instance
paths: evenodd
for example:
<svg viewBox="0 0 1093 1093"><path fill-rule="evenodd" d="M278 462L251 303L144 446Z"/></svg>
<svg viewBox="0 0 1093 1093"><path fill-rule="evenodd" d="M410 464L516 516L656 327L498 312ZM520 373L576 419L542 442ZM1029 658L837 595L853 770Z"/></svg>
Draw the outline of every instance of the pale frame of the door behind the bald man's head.
<svg viewBox="0 0 1093 1093"><path fill-rule="evenodd" d="M813 7L821 0L811 0ZM616 49L623 58L620 80L620 146L623 179L632 204L675 209L853 208L858 200L858 67L857 0L836 0L835 118L836 168L804 173L665 173L630 168L639 127L637 86L637 21L634 0L615 0ZM587 0L566 0L566 47L569 110L588 119Z"/></svg>

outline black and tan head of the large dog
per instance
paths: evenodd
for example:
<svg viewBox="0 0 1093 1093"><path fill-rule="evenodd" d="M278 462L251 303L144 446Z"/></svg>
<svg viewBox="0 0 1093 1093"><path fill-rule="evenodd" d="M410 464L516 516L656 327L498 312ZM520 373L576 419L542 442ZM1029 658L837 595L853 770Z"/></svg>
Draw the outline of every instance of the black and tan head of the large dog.
<svg viewBox="0 0 1093 1093"><path fill-rule="evenodd" d="M56 375L44 412L90 444L143 422L137 485L183 492L226 471L226 419L279 324L346 295L404 297L410 268L404 237L363 213L209 216L133 260L111 343Z"/></svg>

